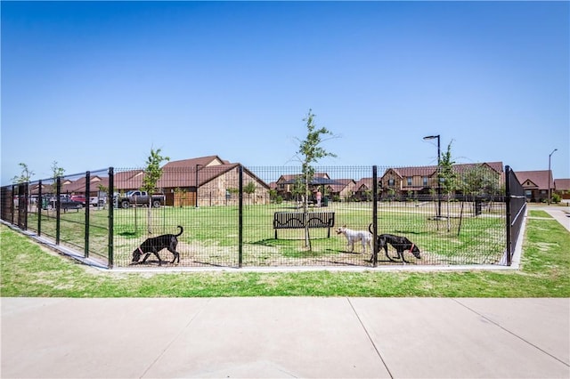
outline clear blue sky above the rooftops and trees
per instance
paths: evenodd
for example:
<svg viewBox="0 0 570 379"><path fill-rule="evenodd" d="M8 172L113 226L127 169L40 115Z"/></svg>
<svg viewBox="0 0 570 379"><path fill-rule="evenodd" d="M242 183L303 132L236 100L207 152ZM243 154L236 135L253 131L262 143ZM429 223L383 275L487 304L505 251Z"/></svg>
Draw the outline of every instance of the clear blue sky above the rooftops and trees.
<svg viewBox="0 0 570 379"><path fill-rule="evenodd" d="M569 173L568 2L5 2L2 184L218 155ZM298 139L298 140L297 140ZM355 178L359 179L359 178Z"/></svg>

